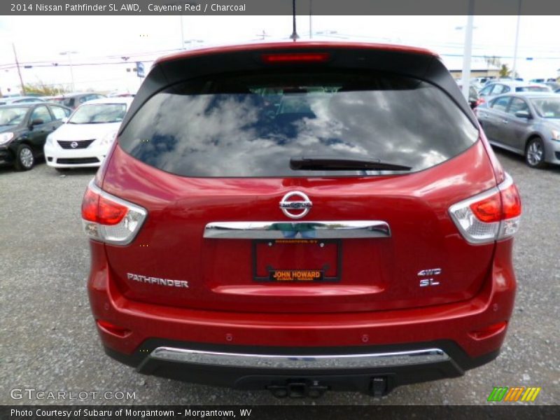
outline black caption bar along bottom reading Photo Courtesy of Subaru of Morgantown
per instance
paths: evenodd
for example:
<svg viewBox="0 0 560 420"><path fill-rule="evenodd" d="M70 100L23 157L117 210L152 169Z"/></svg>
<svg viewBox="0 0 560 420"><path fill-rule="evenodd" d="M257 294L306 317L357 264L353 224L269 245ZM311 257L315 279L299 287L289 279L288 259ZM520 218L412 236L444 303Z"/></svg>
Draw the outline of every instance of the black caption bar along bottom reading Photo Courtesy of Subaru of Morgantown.
<svg viewBox="0 0 560 420"><path fill-rule="evenodd" d="M175 419L234 419L225 412L235 413L235 419L454 419L454 420L517 420L517 419L558 419L559 406L546 405L319 405L325 398L318 398L317 405L287 405L293 400L286 401L283 405L25 405L0 406L0 419L2 420L86 420L86 419L121 419L121 420L175 420ZM325 402L323 402L325 403ZM328 402L327 402L328 403ZM301 401L300 401L301 404ZM307 398L309 404L309 398ZM372 404L376 404L372 398ZM377 400L379 404L379 400ZM10 414L11 410L26 411L26 415ZM49 412L70 412L70 416L45 415ZM95 411L94 411L95 410ZM135 415L127 415L134 413ZM241 415L241 410L247 410ZM250 410L250 414L248 414ZM91 415L97 412L97 415ZM165 415L162 413L172 412ZM31 415L29 415L29 413ZM78 414L79 413L79 414ZM120 413L120 414L119 414ZM148 415L142 415L148 414ZM157 413L157 415L149 415ZM214 414L216 413L216 414Z"/></svg>

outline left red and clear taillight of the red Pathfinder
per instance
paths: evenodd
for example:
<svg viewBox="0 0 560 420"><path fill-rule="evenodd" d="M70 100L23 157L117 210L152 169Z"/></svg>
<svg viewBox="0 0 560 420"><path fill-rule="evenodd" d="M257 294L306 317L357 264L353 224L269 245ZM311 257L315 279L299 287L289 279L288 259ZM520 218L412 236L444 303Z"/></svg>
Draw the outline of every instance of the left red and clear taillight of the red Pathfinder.
<svg viewBox="0 0 560 420"><path fill-rule="evenodd" d="M82 223L90 239L107 244L130 244L147 214L143 207L105 193L94 181L85 190Z"/></svg>

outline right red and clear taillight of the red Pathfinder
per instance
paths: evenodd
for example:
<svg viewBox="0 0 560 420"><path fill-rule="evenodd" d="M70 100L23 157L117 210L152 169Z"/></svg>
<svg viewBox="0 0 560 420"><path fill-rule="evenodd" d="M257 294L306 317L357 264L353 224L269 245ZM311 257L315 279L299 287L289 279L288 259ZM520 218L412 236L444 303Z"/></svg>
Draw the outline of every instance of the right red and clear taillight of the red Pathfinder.
<svg viewBox="0 0 560 420"><path fill-rule="evenodd" d="M461 235L471 244L484 244L511 237L519 229L521 199L511 176L497 188L449 207Z"/></svg>

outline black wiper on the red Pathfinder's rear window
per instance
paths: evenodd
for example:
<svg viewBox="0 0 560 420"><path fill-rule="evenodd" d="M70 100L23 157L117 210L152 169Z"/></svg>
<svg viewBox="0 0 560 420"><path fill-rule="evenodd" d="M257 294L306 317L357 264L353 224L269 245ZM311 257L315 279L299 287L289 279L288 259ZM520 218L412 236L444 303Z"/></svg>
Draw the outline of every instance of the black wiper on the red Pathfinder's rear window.
<svg viewBox="0 0 560 420"><path fill-rule="evenodd" d="M291 158L290 169L295 171L352 171L367 170L372 171L409 171L412 167L395 165L393 163L381 162L373 159L352 159L352 158Z"/></svg>

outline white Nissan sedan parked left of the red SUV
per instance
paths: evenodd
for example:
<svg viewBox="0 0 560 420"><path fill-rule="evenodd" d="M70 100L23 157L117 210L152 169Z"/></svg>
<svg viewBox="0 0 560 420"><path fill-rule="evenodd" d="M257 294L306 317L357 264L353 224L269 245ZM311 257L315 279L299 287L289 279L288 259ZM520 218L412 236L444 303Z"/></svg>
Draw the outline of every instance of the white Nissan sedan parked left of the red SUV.
<svg viewBox="0 0 560 420"><path fill-rule="evenodd" d="M69 119L48 135L47 165L57 170L99 167L115 140L132 97L94 99L80 105Z"/></svg>

